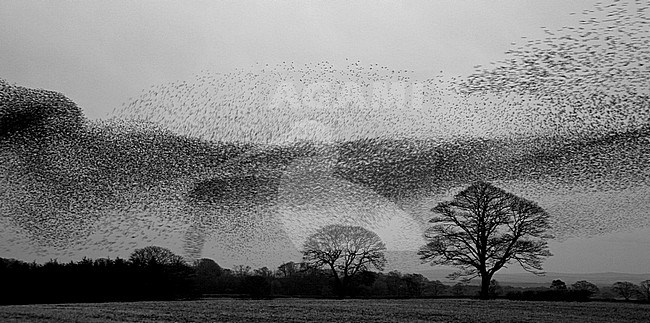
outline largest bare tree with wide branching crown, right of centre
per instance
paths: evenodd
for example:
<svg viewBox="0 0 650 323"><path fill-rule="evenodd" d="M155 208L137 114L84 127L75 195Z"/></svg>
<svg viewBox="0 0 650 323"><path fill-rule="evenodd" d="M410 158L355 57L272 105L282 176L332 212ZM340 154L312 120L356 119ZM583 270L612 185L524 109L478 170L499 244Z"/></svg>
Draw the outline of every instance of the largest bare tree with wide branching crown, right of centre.
<svg viewBox="0 0 650 323"><path fill-rule="evenodd" d="M425 232L428 243L420 249L420 258L458 267L450 275L453 279L480 277L483 299L489 298L490 280L498 270L515 262L542 274L542 261L551 256L548 213L490 183L474 183L432 211L437 215Z"/></svg>

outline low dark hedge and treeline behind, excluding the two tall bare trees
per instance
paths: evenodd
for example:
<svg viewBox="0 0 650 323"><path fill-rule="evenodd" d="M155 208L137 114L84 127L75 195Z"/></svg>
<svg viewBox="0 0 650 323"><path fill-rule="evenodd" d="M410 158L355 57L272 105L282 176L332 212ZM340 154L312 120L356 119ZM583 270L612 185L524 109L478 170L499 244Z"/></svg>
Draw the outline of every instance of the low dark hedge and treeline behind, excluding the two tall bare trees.
<svg viewBox="0 0 650 323"><path fill-rule="evenodd" d="M155 246L138 249L129 259L84 258L78 262L50 260L45 264L37 264L0 258L0 286L0 304L223 296L339 296L331 273L307 263L287 262L275 270L267 267L252 269L243 265L225 269L207 258L188 264L168 249ZM611 288L618 293L613 296L627 296L621 294L621 286L623 284L619 283ZM567 287L564 282L556 280L548 288L502 287L496 280L490 283L491 297L513 300L588 301L597 293L604 295L595 285L586 281ZM421 274L402 274L398 271L363 271L354 276L348 290L349 297L357 298L456 298L477 297L479 294L480 286L464 283L450 286L438 280L430 281ZM642 293L634 295L638 300L643 299Z"/></svg>

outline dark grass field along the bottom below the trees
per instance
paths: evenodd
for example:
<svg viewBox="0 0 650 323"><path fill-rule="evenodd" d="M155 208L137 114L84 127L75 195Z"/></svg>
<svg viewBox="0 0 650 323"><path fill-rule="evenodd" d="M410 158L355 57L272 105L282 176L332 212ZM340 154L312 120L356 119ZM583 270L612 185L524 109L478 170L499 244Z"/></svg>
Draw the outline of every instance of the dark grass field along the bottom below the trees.
<svg viewBox="0 0 650 323"><path fill-rule="evenodd" d="M0 322L650 322L650 306L507 300L210 299L0 306Z"/></svg>

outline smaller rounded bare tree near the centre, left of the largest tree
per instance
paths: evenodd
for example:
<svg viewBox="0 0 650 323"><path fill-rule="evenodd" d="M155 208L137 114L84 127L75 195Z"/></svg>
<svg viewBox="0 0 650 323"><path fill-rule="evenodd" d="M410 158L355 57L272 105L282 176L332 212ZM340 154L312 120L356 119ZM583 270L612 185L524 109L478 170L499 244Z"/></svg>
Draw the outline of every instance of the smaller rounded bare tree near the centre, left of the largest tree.
<svg viewBox="0 0 650 323"><path fill-rule="evenodd" d="M359 226L328 225L307 238L303 259L331 272L336 292L343 297L352 278L371 266L383 270L386 246L379 236Z"/></svg>

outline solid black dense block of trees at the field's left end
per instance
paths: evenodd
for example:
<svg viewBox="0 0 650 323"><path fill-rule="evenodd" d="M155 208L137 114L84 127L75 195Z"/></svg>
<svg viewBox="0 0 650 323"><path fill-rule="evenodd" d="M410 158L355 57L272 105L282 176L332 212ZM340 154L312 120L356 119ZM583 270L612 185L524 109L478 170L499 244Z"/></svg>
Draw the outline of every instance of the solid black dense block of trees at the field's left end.
<svg viewBox="0 0 650 323"><path fill-rule="evenodd" d="M41 265L0 258L0 303L177 299L192 296L193 275L193 268L184 263L84 258Z"/></svg>

